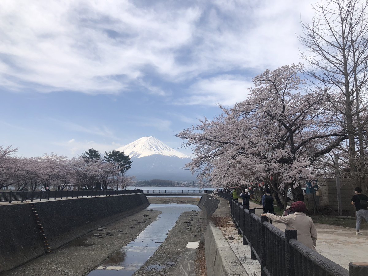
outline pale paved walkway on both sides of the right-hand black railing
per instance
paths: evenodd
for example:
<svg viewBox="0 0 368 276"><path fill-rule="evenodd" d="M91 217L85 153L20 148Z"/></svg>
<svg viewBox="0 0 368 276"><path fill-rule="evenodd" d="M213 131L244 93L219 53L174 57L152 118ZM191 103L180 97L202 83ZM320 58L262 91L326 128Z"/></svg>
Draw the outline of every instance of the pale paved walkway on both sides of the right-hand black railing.
<svg viewBox="0 0 368 276"><path fill-rule="evenodd" d="M256 207L259 208L261 205L250 202L250 208ZM262 209L255 209L255 214L260 216L262 211ZM283 223L274 222L272 225L285 230L285 224ZM368 262L368 230L361 230L364 236L356 236L353 228L320 223L316 223L315 226L318 234L316 249L321 255L347 270L350 262ZM258 261L251 259L250 247L249 245L243 245L243 239L238 236L238 230L234 227L233 221L229 220L228 225L220 227L220 229L249 275L260 276L261 266ZM230 236L235 239L229 240Z"/></svg>

